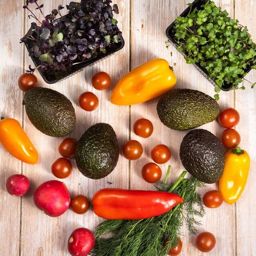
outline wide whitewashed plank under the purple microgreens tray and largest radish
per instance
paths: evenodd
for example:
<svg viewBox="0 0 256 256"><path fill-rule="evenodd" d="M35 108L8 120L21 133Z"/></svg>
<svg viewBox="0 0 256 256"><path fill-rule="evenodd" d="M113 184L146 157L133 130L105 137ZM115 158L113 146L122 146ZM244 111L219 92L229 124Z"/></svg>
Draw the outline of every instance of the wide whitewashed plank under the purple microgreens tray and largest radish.
<svg viewBox="0 0 256 256"><path fill-rule="evenodd" d="M63 6L70 1L62 2ZM60 2L54 0L45 2L45 13L56 8ZM92 124L98 122L106 122L110 124L117 133L119 145L128 139L129 136L129 107L118 107L110 103L110 93L115 83L129 71L129 3L123 1L114 1L119 6L119 15L115 18L119 22L119 29L123 31L125 39L125 47L113 56L97 63L92 67L87 67L82 72L61 81L54 85L48 85L40 79L40 86L52 88L63 93L72 101L76 112L76 126L70 137L79 139L83 132ZM62 10L65 12L65 9ZM28 21L27 21L28 22ZM26 23L26 28L29 24ZM26 55L25 65L31 63ZM112 78L111 87L105 91L97 91L91 85L93 74L98 71L108 72ZM37 73L39 76L39 74ZM78 106L78 98L85 91L94 92L99 98L99 106L93 112L86 112ZM51 173L51 165L61 157L58 153L58 145L64 138L53 138L39 132L31 125L25 114L25 129L31 137L36 138L36 146L40 155L39 162L36 166L28 166L25 170L27 175L33 181L30 197L25 200L22 214L22 255L31 256L62 256L69 255L67 252L67 239L72 231L78 227L86 227L93 231L94 227L102 220L97 217L92 208L84 215L77 215L70 209L58 218L51 218L41 213L33 204L33 192L36 187L46 180L56 180ZM69 137L69 136L67 136ZM128 188L128 162L120 157L115 170L106 178L101 180L90 180L83 176L75 167L74 159L72 159L73 173L70 177L62 180L67 185L71 196L82 193L91 200L93 194L104 187L120 187ZM106 182L113 182L108 185ZM32 221L31 221L32 220ZM31 234L34 238L31 239Z"/></svg>

